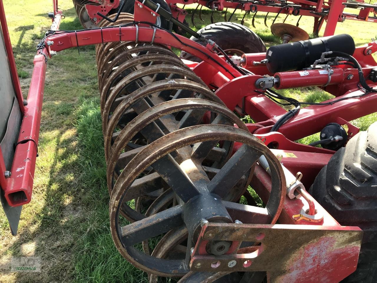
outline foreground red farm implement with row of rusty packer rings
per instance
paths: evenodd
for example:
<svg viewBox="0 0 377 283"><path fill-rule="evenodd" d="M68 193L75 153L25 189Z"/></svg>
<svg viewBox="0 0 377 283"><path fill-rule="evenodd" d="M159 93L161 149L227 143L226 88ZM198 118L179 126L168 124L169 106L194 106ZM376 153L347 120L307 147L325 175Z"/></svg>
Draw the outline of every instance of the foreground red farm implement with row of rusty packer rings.
<svg viewBox="0 0 377 283"><path fill-rule="evenodd" d="M31 199L47 62L94 44L112 237L150 282L374 282L377 123L359 132L349 121L377 110L377 42L355 48L343 34L266 51L259 38L254 53L227 52L151 0L135 7L98 28L59 31L55 2L23 102L0 6L2 75L22 114L15 152L1 147L12 232ZM258 40L241 25L214 25ZM334 98L304 103L273 90L307 86ZM296 142L317 132L311 145Z"/></svg>

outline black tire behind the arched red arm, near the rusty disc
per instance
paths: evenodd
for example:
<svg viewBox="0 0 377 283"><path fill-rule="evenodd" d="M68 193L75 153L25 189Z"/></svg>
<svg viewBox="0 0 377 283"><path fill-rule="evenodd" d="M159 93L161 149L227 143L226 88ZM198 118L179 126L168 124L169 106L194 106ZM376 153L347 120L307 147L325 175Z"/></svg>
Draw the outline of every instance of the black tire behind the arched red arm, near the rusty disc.
<svg viewBox="0 0 377 283"><path fill-rule="evenodd" d="M219 22L213 23L199 29L199 34L204 38L213 40L220 46L228 55L239 55L244 53L258 53L266 52L266 46L262 39L251 29L238 23ZM205 45L204 42L195 37L190 37L191 40ZM181 58L200 62L201 60L184 51L181 52Z"/></svg>

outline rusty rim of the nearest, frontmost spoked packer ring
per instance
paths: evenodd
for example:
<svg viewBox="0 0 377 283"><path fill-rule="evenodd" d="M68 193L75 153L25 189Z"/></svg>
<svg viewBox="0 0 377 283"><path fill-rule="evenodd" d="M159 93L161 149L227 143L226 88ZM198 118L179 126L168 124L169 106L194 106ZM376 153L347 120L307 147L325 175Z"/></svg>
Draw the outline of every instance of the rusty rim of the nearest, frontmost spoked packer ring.
<svg viewBox="0 0 377 283"><path fill-rule="evenodd" d="M213 140L239 141L244 144L244 146L241 147L243 151L241 151L240 154L249 151L255 158L260 155L265 155L270 165L272 180L271 194L265 210L270 217L270 221L268 222L275 223L279 217L285 197L285 190L283 189L285 177L279 160L277 160L267 146L250 133L233 126L198 125L180 129L159 138L143 148L123 170L111 195L110 228L114 243L123 257L137 268L159 276L170 277L179 277L189 271L184 261L158 259L133 247L136 243L154 237L156 233L159 235L182 226L183 220L181 215L184 205L173 206L152 217L144 218L143 220L136 221L121 228L118 225L118 217L121 203L123 203L126 194L129 193L130 185L147 167L155 162L160 162L159 160L168 157L171 152L175 152L185 146ZM233 155L233 157L235 155ZM238 156L240 155L235 157L236 160ZM230 160L232 160L232 158ZM249 162L253 161L254 159ZM232 162L234 162L234 159ZM224 166L226 166L226 164ZM186 193L190 194L191 192ZM242 213L246 213L246 211L242 211ZM147 235L147 231L154 234Z"/></svg>

